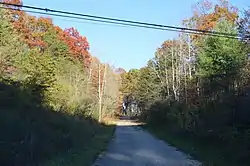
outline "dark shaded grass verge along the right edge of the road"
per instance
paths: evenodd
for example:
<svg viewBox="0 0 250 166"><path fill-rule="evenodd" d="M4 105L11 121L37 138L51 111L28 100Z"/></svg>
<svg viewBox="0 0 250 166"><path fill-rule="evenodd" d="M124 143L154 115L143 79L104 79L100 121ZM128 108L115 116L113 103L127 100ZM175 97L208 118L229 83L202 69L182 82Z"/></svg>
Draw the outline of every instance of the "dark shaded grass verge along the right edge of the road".
<svg viewBox="0 0 250 166"><path fill-rule="evenodd" d="M148 124L141 127L157 138L166 141L171 146L202 162L204 166L241 165L237 161L237 151L229 151L221 146L212 145L212 143L204 143L189 135L174 133L167 127L159 128Z"/></svg>

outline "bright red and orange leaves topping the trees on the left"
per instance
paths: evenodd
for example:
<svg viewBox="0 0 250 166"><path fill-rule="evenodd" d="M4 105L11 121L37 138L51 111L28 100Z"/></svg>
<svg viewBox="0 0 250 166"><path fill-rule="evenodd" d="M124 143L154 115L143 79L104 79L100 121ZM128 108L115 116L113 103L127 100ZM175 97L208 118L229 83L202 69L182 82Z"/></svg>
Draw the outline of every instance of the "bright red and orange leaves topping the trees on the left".
<svg viewBox="0 0 250 166"><path fill-rule="evenodd" d="M22 5L21 0L4 0L3 2ZM12 6L7 7L16 8ZM47 43L43 41L43 36L49 28L54 28L58 38L67 44L71 55L81 61L85 67L89 67L91 61L91 56L88 52L89 43L87 38L81 36L75 28L63 31L60 27L53 25L51 18L36 18L20 10L9 10L8 14L11 16L15 29L22 34L23 40L30 48L38 47L41 50L45 49Z"/></svg>

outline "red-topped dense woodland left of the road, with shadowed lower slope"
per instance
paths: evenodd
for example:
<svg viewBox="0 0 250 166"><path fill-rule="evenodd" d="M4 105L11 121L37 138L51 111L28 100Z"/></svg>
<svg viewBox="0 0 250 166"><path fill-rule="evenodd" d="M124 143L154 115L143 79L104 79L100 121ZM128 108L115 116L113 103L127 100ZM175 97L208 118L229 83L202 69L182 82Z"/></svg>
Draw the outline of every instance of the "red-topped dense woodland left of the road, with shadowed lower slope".
<svg viewBox="0 0 250 166"><path fill-rule="evenodd" d="M120 75L89 48L75 28L0 9L0 165L38 165L112 134L97 121L117 110Z"/></svg>

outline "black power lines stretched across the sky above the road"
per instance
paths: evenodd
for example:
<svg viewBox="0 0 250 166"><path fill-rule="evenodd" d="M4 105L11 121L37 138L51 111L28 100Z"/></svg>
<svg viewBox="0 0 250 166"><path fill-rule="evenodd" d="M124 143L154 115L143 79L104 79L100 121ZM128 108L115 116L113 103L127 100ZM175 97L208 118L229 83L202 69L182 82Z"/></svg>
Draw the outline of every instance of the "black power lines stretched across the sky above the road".
<svg viewBox="0 0 250 166"><path fill-rule="evenodd" d="M4 2L0 2L0 4L7 5L7 6L19 7L19 8L28 8L28 9L42 10L42 11L45 11L45 12L55 12L55 13L61 13L61 14L74 15L74 16L89 17L89 18L94 18L94 19L99 19L99 20L101 19L102 21L103 20L115 21L115 23L117 23L117 22L129 23L130 25L131 24L138 24L138 25L142 25L142 26L175 29L175 30L180 30L182 32L183 31L193 31L193 32L199 32L199 33L216 34L216 35L223 35L223 36L230 36L230 37L240 38L236 34L215 32L215 31L206 31L206 30L198 30L198 29L191 29L191 28L184 28L184 27L177 27L177 26L168 26L168 25L152 24L152 23L146 23L146 22L122 20L122 19L116 19L116 18L109 18L109 17L101 17L101 16L94 16L94 15L88 15L88 14L66 12L66 11L54 10L54 9L52 10L52 9L48 9L48 8L40 8L40 7L27 6L27 5L17 5L17 4L10 4L10 3L4 3Z"/></svg>

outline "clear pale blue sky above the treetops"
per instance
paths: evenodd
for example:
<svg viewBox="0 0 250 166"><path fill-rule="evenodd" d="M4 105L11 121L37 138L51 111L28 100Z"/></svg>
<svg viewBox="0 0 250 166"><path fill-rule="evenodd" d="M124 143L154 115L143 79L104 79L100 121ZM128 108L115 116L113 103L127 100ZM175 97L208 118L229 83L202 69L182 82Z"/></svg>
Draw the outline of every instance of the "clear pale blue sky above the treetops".
<svg viewBox="0 0 250 166"><path fill-rule="evenodd" d="M192 15L197 0L23 0L24 5L126 20L181 26ZM249 0L231 0L239 9ZM34 14L33 14L34 15ZM163 41L176 32L94 23L52 17L62 29L74 27L90 43L90 52L102 62L125 70L141 68L154 57Z"/></svg>

